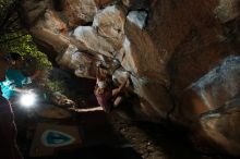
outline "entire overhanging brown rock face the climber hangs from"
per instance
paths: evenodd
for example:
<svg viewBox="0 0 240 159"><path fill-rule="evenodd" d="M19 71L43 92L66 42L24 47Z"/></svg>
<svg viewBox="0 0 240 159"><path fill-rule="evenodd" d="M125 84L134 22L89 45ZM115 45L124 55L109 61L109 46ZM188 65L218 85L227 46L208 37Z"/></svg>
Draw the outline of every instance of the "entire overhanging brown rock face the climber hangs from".
<svg viewBox="0 0 240 159"><path fill-rule="evenodd" d="M96 62L131 72L130 118L169 118L240 156L239 0L23 2L29 30L59 65L94 78Z"/></svg>

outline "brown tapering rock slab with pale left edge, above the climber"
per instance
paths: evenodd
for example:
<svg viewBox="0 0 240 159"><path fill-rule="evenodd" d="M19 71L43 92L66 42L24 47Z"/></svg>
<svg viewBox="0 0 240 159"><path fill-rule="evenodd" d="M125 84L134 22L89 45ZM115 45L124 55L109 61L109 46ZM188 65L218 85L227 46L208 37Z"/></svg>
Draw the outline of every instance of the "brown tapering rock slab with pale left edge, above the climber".
<svg viewBox="0 0 240 159"><path fill-rule="evenodd" d="M139 77L147 77L168 85L165 57L160 56L152 37L141 26L132 19L128 21L125 25L128 36L120 56L118 56L119 60L125 70L133 72Z"/></svg>

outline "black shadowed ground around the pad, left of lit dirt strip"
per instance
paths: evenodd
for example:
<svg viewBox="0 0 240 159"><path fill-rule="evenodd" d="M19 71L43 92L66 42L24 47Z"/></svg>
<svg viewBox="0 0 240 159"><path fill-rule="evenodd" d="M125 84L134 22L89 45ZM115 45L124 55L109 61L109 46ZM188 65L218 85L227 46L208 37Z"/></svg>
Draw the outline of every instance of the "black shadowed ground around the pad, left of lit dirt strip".
<svg viewBox="0 0 240 159"><path fill-rule="evenodd" d="M75 113L64 120L29 117L32 112L14 108L19 130L17 143L25 159L141 159L128 140L115 132L103 111ZM29 157L29 149L38 123L55 123L76 126L82 139L81 148L59 150L52 157ZM127 146L125 146L127 145Z"/></svg>

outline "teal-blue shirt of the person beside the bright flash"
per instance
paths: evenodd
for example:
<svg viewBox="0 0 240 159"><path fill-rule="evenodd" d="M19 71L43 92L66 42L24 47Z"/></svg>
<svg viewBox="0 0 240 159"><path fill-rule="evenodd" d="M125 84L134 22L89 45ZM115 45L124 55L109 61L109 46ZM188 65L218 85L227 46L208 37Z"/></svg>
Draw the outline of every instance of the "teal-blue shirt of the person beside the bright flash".
<svg viewBox="0 0 240 159"><path fill-rule="evenodd" d="M2 96L10 99L12 96L17 95L14 90L15 87L23 87L24 84L29 84L29 77L23 75L20 70L9 69L5 72L5 81L0 83Z"/></svg>

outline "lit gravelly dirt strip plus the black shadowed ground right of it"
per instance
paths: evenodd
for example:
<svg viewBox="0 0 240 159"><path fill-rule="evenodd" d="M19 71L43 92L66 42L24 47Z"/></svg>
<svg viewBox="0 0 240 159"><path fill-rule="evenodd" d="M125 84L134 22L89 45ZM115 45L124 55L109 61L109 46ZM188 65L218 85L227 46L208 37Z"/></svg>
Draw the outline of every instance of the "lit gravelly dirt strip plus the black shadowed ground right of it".
<svg viewBox="0 0 240 159"><path fill-rule="evenodd" d="M118 117L110 117L110 121L143 159L235 159L193 144L188 130L166 121L127 122Z"/></svg>

